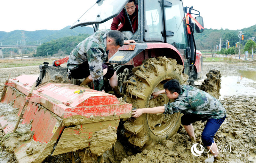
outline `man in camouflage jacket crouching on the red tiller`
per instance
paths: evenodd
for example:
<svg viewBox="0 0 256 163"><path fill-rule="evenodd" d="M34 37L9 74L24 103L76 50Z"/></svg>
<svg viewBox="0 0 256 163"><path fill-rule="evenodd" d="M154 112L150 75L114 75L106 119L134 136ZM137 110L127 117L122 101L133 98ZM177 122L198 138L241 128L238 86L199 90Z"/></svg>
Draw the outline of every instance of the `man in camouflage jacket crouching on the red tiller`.
<svg viewBox="0 0 256 163"><path fill-rule="evenodd" d="M124 94L117 87L116 71L109 68L105 62L108 61L108 51L115 50L124 44L135 43L134 40L124 40L120 31L99 30L80 42L69 54L68 70L69 77L74 79L86 78L80 86L88 85L93 81L94 89L104 91L103 77L109 79L117 98Z"/></svg>

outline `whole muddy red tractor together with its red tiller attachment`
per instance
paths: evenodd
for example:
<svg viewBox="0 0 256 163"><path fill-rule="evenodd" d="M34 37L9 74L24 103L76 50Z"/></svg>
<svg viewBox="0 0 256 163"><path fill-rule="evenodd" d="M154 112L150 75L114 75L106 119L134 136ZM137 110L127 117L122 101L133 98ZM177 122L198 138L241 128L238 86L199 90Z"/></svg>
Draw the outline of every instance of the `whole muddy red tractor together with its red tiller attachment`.
<svg viewBox="0 0 256 163"><path fill-rule="evenodd" d="M127 2L97 0L70 28L92 25L94 32L110 28L112 18ZM168 80L187 84L188 80L202 78L202 54L196 50L194 31L203 32L203 18L193 6L183 7L181 0L136 0L136 3L138 30L131 37L136 43L108 53L107 64L116 70L118 87L125 93L124 102L109 94L108 82L104 81L108 93L102 93L78 86L79 80L68 80L67 67L60 66L68 57L55 60L52 65L40 65L39 76L21 75L6 80L1 103L13 103L19 108L15 113L19 121L15 126L8 113L0 112L4 133L10 136L21 124L30 125L33 131L30 139L23 138L24 142L6 147L19 162L42 162L49 155L85 148L100 157L116 141L114 134L109 143L100 142L103 131L118 132L139 149L150 148L177 132L180 113L144 114L135 119L131 118L131 111L168 103L167 96L150 98ZM74 93L76 90L83 93ZM99 140L102 149L93 144L95 140Z"/></svg>

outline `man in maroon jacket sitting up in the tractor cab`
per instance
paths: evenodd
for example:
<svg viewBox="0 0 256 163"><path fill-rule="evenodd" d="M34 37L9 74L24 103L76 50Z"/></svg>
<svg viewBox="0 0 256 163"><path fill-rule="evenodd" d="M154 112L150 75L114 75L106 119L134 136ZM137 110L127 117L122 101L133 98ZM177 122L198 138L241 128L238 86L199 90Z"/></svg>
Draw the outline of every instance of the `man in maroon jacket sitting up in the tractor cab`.
<svg viewBox="0 0 256 163"><path fill-rule="evenodd" d="M123 9L115 18L113 18L110 29L118 30L121 32L131 31L132 34L134 34L138 29L138 5L136 5L135 0L129 0L125 5L125 9L130 18L130 21L125 10Z"/></svg>

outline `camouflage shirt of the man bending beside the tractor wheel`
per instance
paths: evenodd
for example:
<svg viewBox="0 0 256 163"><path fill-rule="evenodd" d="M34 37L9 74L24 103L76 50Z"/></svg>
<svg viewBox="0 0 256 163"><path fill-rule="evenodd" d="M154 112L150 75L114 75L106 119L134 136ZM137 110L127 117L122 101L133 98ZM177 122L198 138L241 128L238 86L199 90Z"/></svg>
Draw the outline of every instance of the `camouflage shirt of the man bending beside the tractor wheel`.
<svg viewBox="0 0 256 163"><path fill-rule="evenodd" d="M181 85L181 89L174 102L164 104L164 114L181 112L203 118L202 122L210 118L219 119L227 114L220 101L212 95L190 85Z"/></svg>

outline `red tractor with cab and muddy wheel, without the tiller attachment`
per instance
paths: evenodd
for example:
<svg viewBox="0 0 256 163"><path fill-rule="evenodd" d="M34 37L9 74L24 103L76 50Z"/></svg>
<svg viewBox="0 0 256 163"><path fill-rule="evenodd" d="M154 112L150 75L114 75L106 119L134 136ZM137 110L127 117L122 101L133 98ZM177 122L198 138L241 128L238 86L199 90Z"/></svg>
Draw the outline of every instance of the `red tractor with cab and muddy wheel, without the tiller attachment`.
<svg viewBox="0 0 256 163"><path fill-rule="evenodd" d="M108 63L117 71L126 102L132 103L134 108L163 106L169 102L167 96L155 99L150 96L162 90L166 81L177 79L184 84L188 78L198 80L202 77L202 54L196 50L194 28L197 33L203 32L203 18L193 7L183 7L181 0L136 2L139 23L131 38L136 44L124 45L110 53ZM111 18L116 17L126 3L127 0L120 0L118 4L98 0L70 28L92 24L95 31L106 25L109 28ZM197 17L194 19L192 15ZM155 144L176 133L180 117L180 113L145 114L126 120L124 134L135 146Z"/></svg>

